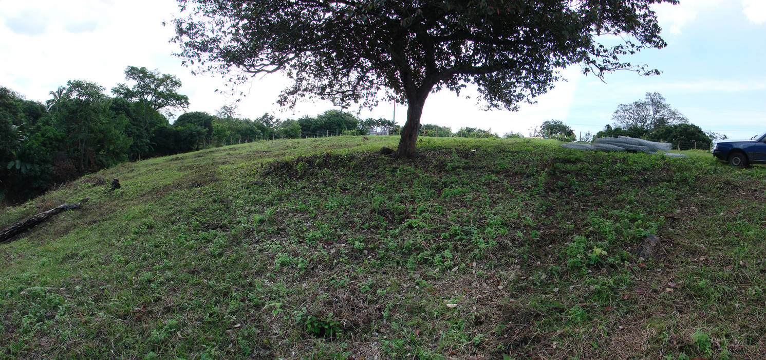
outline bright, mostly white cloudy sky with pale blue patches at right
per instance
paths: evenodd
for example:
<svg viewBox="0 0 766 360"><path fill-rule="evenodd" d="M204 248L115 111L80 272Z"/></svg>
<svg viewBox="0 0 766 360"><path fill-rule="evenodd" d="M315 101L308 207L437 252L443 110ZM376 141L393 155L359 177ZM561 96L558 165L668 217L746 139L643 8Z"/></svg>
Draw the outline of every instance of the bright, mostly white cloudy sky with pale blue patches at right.
<svg viewBox="0 0 766 360"><path fill-rule="evenodd" d="M237 100L215 92L226 86L221 78L193 76L172 55L178 50L169 43L173 30L162 25L178 14L172 0L0 0L0 8L0 86L28 99L45 101L48 91L73 79L96 82L108 92L125 81L124 70L133 65L180 78L180 92L191 101L189 111L214 114ZM659 68L659 76L625 71L607 75L603 82L581 75L578 67L568 68L563 71L568 81L516 112L483 111L482 104L466 99L463 92L461 97L431 94L422 122L453 130L469 126L527 134L542 121L555 119L575 132L596 132L611 123L618 104L656 91L703 130L729 137L766 130L766 0L682 0L656 11L668 46L630 61ZM285 84L279 74L254 78L238 89L247 94L238 103L239 113L296 118L333 108L322 102L280 108L275 101ZM359 115L390 119L393 113L392 104L381 104ZM397 106L399 124L405 116L404 106Z"/></svg>

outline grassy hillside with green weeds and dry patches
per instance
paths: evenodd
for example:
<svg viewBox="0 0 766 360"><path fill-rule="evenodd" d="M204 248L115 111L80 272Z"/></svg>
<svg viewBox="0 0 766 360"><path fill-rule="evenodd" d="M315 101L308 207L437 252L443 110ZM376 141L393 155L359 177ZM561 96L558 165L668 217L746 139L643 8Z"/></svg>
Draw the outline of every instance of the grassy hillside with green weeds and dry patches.
<svg viewBox="0 0 766 360"><path fill-rule="evenodd" d="M764 356L763 167L394 144L202 150L4 209L91 198L0 245L0 357Z"/></svg>

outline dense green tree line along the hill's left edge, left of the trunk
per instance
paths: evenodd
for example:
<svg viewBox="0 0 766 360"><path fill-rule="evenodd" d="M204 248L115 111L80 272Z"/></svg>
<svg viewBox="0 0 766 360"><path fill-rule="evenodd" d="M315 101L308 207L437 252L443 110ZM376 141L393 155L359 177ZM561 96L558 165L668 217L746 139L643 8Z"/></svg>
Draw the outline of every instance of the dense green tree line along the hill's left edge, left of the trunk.
<svg viewBox="0 0 766 360"><path fill-rule="evenodd" d="M386 119L359 119L330 110L316 117L249 119L234 106L216 114L172 111L188 108L172 75L129 66L126 80L111 89L67 81L41 103L0 86L0 203L18 203L65 183L126 161L226 144L227 139L299 138L303 134L366 134L394 127ZM231 141L228 142L231 144Z"/></svg>

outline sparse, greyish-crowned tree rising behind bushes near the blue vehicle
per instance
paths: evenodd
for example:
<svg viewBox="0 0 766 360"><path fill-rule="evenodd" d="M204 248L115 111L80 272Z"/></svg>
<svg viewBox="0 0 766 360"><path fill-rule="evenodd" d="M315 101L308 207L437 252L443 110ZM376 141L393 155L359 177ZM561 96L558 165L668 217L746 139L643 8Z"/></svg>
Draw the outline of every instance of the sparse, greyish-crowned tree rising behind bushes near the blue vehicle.
<svg viewBox="0 0 766 360"><path fill-rule="evenodd" d="M688 124L689 119L671 107L660 93L647 93L643 100L620 104L612 121L623 128L637 127L647 133L658 127Z"/></svg>

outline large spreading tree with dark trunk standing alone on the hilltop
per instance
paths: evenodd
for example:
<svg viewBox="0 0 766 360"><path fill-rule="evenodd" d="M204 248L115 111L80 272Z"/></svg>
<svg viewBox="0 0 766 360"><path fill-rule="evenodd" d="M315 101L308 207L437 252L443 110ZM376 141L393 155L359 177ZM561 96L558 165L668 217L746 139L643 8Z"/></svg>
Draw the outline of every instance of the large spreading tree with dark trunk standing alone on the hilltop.
<svg viewBox="0 0 766 360"><path fill-rule="evenodd" d="M396 155L413 157L433 91L472 84L489 107L515 110L581 64L597 77L663 48L650 5L676 0L178 0L185 63L234 82L284 71L280 104L316 96L341 106L408 104ZM617 36L611 36L617 35ZM597 39L607 39L607 45ZM620 39L615 44L615 39ZM622 41L624 40L624 41Z"/></svg>

